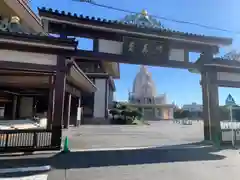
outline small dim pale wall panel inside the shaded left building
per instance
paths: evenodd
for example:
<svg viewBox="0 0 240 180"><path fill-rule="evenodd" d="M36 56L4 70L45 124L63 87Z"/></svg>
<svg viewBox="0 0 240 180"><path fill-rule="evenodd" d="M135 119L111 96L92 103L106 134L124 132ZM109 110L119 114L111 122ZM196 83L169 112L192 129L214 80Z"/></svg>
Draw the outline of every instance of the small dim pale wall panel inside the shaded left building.
<svg viewBox="0 0 240 180"><path fill-rule="evenodd" d="M22 97L20 99L20 117L29 117L33 113L33 97Z"/></svg>

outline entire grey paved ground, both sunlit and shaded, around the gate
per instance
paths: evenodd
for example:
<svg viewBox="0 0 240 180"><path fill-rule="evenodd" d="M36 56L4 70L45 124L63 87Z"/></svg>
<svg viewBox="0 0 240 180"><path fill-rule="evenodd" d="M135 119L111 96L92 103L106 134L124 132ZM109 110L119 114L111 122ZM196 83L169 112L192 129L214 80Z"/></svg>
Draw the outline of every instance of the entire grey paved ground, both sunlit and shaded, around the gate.
<svg viewBox="0 0 240 180"><path fill-rule="evenodd" d="M239 179L238 151L219 151L199 143L203 139L201 123L189 126L171 122L152 122L150 126L82 126L64 135L69 136L72 149L85 151L1 156L0 179L3 178L1 168L43 165L52 167L47 172L48 180ZM119 147L128 149L117 150ZM19 173L4 176L13 175L18 177Z"/></svg>

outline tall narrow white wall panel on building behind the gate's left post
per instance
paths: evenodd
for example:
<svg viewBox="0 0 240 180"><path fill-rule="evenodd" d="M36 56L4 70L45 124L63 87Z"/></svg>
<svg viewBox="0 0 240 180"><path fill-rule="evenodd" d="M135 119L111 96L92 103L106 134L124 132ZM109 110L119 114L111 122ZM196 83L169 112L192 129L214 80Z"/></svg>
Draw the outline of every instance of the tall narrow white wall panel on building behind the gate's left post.
<svg viewBox="0 0 240 180"><path fill-rule="evenodd" d="M96 118L105 117L105 91L106 89L106 79L95 79L95 86L97 91L94 94L94 111L93 116Z"/></svg>

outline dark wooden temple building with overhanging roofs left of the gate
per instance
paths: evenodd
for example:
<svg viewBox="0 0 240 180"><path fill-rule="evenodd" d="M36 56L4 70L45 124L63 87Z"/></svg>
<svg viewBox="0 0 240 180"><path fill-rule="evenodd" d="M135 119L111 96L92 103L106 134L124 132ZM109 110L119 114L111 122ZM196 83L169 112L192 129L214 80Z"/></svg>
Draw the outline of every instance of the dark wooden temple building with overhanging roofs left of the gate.
<svg viewBox="0 0 240 180"><path fill-rule="evenodd" d="M80 119L91 123L107 118L115 91L113 78L119 77L118 63L76 61L71 54L78 46L75 38L61 32L60 37L49 36L26 0L2 1L0 15L3 119L42 114L49 127L57 118L67 128ZM58 82L58 75L63 82Z"/></svg>

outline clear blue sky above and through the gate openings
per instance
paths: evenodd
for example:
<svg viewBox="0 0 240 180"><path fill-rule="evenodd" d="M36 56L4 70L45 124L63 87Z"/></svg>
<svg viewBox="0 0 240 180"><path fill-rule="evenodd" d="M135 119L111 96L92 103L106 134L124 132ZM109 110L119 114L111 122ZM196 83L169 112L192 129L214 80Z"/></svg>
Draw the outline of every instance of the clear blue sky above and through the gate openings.
<svg viewBox="0 0 240 180"><path fill-rule="evenodd" d="M95 0L95 2L137 12L141 12L142 9L146 9L149 14L153 15L192 21L209 26L230 29L232 31L240 31L239 0ZM77 14L115 20L121 19L127 15L123 12L94 7L89 4L72 0L32 0L31 5L35 10L37 7L45 6ZM239 49L240 35L163 20L161 22L165 27L174 30L233 38L233 45L223 49L221 54L231 49ZM88 49L91 46L91 43L87 40L83 40L81 42L81 46ZM172 101L175 101L177 104L187 104L191 102L202 103L202 93L199 85L200 75L191 74L187 70L171 68L148 67L148 69L152 73L158 93L167 93L169 103ZM117 87L115 97L117 100L126 100L128 90L132 89L132 82L139 70L139 66L121 64L120 70L121 78L115 81ZM184 77L184 81L182 81L182 77ZM220 104L224 103L229 93L232 94L237 103L240 103L240 89L219 88Z"/></svg>

